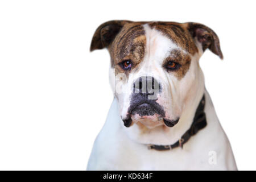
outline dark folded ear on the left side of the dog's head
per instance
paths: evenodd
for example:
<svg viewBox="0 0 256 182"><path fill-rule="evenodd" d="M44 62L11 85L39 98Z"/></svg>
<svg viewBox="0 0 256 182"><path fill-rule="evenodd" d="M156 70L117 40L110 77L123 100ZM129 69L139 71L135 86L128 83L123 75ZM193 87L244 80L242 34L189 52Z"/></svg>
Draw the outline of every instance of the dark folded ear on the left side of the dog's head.
<svg viewBox="0 0 256 182"><path fill-rule="evenodd" d="M112 20L102 23L94 32L92 43L90 43L90 51L108 47L118 32L122 29L123 25L128 22L130 21Z"/></svg>

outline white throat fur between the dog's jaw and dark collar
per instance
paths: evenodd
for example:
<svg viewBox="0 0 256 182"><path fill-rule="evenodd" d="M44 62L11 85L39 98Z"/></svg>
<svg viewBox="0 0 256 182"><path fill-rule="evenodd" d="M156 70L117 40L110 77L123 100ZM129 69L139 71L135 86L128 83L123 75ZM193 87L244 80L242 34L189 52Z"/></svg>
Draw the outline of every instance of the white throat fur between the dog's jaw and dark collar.
<svg viewBox="0 0 256 182"><path fill-rule="evenodd" d="M123 126L121 118L119 121L120 125L122 125L122 128L125 130L128 137L135 142L158 145L174 144L189 129L189 127L191 127L197 106L199 105L205 90L203 73L197 84L198 85L195 85L197 88L195 92L191 93L191 96L185 101L179 122L174 127L162 125L155 127L154 129L148 129L141 123L135 123L127 128ZM116 100L116 98L114 99Z"/></svg>

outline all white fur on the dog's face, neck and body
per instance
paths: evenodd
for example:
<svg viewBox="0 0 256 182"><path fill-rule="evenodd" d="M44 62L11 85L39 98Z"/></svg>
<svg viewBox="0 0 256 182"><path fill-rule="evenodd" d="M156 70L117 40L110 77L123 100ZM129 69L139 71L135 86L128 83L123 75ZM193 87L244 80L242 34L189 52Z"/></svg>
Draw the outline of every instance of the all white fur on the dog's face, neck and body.
<svg viewBox="0 0 256 182"><path fill-rule="evenodd" d="M204 76L199 67L199 58L203 51L191 56L191 65L186 75L177 79L172 73L167 73L162 64L172 49L181 49L161 32L144 25L146 31L146 51L144 60L133 76L119 81L119 91L114 92L114 101L110 107L108 118L98 135L88 169L237 169L228 138L218 122L212 101L204 89ZM197 45L198 46L198 45ZM185 52L181 49L181 51ZM168 119L180 117L174 127L167 127L163 120L156 119L155 125L142 130L136 124L126 128L122 118L127 115L130 106L130 96L133 82L141 76L151 74L161 82L163 91L158 95L157 102L164 106ZM114 69L110 69L112 89ZM120 84L121 83L121 84ZM184 144L183 149L174 148L171 151L148 150L146 144L174 144L191 126L197 105L205 94L205 113L207 127L200 130ZM121 117L120 117L121 116ZM144 123L145 124L145 123ZM213 151L213 152L212 152ZM217 164L210 164L209 154L215 154Z"/></svg>

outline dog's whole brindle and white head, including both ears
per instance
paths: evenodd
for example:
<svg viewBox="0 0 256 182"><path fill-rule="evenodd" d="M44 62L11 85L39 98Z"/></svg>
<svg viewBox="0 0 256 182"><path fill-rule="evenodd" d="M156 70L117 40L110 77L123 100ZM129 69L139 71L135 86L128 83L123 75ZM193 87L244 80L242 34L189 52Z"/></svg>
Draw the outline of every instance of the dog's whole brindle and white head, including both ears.
<svg viewBox="0 0 256 182"><path fill-rule="evenodd" d="M176 125L196 95L202 53L209 48L222 58L217 35L199 23L106 22L96 30L91 51L105 47L126 127Z"/></svg>

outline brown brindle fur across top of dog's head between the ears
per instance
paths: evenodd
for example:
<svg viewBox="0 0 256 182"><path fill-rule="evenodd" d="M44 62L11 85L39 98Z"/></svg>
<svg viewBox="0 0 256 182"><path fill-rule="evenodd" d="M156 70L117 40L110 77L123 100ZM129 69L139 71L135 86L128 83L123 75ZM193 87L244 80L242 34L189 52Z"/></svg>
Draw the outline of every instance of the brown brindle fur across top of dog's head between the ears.
<svg viewBox="0 0 256 182"><path fill-rule="evenodd" d="M149 28L145 28L149 27ZM176 22L131 22L126 23L110 46L112 62L131 59L135 63L144 57L146 47L146 29L156 30L166 36L176 47L190 55L197 52L187 28L182 23Z"/></svg>

